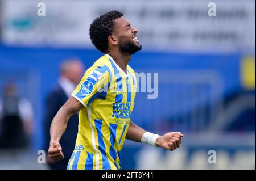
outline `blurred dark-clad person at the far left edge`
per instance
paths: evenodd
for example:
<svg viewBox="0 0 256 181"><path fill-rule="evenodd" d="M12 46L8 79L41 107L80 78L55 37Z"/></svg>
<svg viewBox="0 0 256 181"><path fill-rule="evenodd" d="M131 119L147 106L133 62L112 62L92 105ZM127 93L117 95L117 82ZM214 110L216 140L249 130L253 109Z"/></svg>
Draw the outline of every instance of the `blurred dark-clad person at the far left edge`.
<svg viewBox="0 0 256 181"><path fill-rule="evenodd" d="M28 148L32 131L33 110L21 98L14 83L8 83L0 100L0 149Z"/></svg>

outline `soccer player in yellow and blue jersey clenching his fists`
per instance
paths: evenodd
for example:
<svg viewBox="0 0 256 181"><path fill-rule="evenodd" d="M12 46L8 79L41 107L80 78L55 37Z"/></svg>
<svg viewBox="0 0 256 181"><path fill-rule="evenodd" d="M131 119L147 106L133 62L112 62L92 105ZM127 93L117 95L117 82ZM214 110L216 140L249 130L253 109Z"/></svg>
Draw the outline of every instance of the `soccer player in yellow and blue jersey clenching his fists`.
<svg viewBox="0 0 256 181"><path fill-rule="evenodd" d="M121 169L119 153L125 138L171 151L179 148L180 132L159 136L130 120L137 83L127 64L142 49L137 33L119 11L106 12L90 25L90 39L104 55L85 72L50 130L48 155L59 161L64 158L61 136L69 118L80 111L76 146L67 169Z"/></svg>

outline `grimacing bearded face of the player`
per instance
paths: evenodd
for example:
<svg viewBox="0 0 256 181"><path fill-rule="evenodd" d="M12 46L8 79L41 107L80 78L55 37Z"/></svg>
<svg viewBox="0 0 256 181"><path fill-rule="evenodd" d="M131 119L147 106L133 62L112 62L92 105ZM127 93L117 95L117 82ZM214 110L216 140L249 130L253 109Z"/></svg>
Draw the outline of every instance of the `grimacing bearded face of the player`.
<svg viewBox="0 0 256 181"><path fill-rule="evenodd" d="M142 49L137 38L138 30L131 27L126 18L115 19L115 33L118 36L118 45L121 52L134 54Z"/></svg>

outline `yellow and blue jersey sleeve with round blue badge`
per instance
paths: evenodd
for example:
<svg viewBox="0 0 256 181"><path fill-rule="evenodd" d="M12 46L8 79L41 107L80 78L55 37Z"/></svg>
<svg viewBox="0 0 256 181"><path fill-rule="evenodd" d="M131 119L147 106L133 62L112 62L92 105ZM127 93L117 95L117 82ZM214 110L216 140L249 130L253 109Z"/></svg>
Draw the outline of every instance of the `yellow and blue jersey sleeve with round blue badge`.
<svg viewBox="0 0 256 181"><path fill-rule="evenodd" d="M72 96L86 107L94 99L106 93L109 85L110 75L108 71L104 67L93 66L85 72Z"/></svg>

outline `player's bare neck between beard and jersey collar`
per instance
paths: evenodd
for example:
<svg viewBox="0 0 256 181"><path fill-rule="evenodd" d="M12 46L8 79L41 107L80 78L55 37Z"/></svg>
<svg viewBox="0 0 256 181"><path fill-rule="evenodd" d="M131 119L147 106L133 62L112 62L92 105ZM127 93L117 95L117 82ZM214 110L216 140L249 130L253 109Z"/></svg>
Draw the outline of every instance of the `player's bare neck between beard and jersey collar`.
<svg viewBox="0 0 256 181"><path fill-rule="evenodd" d="M131 59L131 54L128 54L128 53L122 53L122 52L119 52L119 51L107 51L105 52L106 54L109 54L113 60L115 61L115 63L117 63L117 65L125 72L127 73L126 71L126 68L127 68L127 64L128 62L130 61Z"/></svg>

